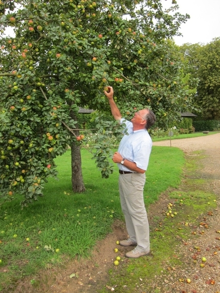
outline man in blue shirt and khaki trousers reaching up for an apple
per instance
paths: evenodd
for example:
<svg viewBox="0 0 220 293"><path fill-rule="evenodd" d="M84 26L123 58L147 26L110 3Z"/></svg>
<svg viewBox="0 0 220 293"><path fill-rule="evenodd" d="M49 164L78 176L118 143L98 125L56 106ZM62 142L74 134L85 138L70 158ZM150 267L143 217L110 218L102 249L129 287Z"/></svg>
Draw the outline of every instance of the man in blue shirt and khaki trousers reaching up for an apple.
<svg viewBox="0 0 220 293"><path fill-rule="evenodd" d="M150 253L149 223L143 189L152 148L152 140L147 129L154 125L156 119L150 109L143 109L134 114L131 122L125 121L113 100L113 88L108 86L108 92L104 92L109 99L112 116L121 124L126 123L129 133L122 138L112 160L119 167L120 201L129 234L129 238L120 241L120 245L136 245L132 251L126 253L126 256L137 258Z"/></svg>

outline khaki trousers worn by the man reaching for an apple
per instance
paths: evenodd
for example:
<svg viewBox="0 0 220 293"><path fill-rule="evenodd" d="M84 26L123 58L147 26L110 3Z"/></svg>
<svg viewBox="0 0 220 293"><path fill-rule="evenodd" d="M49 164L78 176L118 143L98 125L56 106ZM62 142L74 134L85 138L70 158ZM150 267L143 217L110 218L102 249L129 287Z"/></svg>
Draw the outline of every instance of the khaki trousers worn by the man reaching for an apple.
<svg viewBox="0 0 220 293"><path fill-rule="evenodd" d="M145 181L145 173L119 174L119 193L126 228L141 252L150 251L149 223L143 196Z"/></svg>

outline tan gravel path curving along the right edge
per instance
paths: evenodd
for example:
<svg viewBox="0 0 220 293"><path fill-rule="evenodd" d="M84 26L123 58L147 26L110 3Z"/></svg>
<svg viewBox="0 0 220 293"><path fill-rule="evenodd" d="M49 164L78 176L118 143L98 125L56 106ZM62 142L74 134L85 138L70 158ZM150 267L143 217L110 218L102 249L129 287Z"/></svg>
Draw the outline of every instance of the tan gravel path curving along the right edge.
<svg viewBox="0 0 220 293"><path fill-rule="evenodd" d="M170 141L155 142L153 145L170 146ZM155 288L160 293L220 293L220 233L217 233L220 232L220 133L172 140L171 145L182 149L189 156L197 150L203 151L204 158L199 162L201 168L196 176L207 179L202 189L217 195L218 206L203 218L208 224L204 234L199 234L198 238L192 237L181 246L187 271L179 269L171 271L169 275L161 272L155 280ZM203 229L200 225L197 232ZM202 256L207 259L204 268L200 267ZM179 282L179 278L183 278L184 282ZM191 280L190 284L185 282L186 278Z"/></svg>

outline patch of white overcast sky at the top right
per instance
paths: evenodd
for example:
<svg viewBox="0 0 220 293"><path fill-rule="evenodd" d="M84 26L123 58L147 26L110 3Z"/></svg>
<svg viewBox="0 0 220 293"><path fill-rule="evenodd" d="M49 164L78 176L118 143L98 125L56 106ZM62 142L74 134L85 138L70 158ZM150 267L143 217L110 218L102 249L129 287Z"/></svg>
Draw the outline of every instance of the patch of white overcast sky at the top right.
<svg viewBox="0 0 220 293"><path fill-rule="evenodd" d="M183 37L175 37L177 45L183 43L209 43L220 37L220 0L176 0L181 14L189 14L190 19L182 23ZM162 0L164 8L171 6L172 0Z"/></svg>

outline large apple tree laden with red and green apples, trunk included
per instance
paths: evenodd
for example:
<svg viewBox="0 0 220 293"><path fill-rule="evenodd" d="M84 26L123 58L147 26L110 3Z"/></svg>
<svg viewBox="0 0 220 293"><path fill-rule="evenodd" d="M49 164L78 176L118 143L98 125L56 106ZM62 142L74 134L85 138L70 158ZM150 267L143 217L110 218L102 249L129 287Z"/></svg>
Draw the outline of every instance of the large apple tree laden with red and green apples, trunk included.
<svg viewBox="0 0 220 293"><path fill-rule="evenodd" d="M67 146L73 191L85 190L80 149L86 133L82 139L78 110L109 111L107 85L124 116L148 106L160 126L191 107L181 54L172 41L189 16L176 12L176 1L166 11L161 2L0 1L2 197L20 192L22 205L37 200L46 178L57 174L54 158ZM93 154L107 178L113 170L108 138L121 131L98 117L97 132Z"/></svg>

